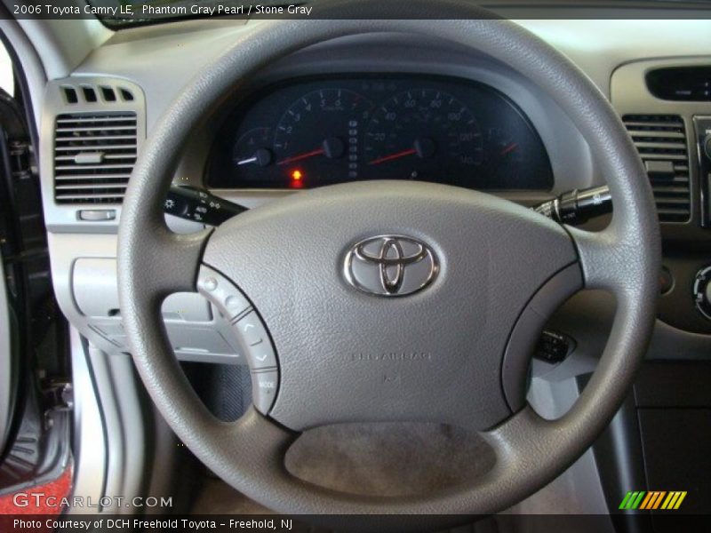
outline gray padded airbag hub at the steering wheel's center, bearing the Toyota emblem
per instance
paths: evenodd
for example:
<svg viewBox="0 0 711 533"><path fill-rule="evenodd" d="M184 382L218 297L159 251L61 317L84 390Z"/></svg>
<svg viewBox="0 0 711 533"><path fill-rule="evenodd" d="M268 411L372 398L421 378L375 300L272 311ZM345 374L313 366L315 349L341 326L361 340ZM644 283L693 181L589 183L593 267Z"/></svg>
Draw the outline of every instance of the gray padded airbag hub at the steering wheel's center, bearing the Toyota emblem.
<svg viewBox="0 0 711 533"><path fill-rule="evenodd" d="M217 228L204 254L263 321L232 317L237 334L268 330L278 363L252 358L255 404L292 429L493 426L511 414L500 373L515 319L575 260L565 232L530 210L397 181L292 195Z"/></svg>

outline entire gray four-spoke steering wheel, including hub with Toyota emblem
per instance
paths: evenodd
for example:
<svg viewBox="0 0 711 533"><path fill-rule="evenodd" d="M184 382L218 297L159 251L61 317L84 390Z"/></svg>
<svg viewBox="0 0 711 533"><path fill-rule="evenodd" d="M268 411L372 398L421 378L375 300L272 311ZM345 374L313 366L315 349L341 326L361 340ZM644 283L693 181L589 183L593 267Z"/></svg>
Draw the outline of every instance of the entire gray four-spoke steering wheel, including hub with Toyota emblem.
<svg viewBox="0 0 711 533"><path fill-rule="evenodd" d="M345 4L362 16L379 13L371 0ZM651 336L659 225L619 117L578 68L514 23L468 3L408 2L410 13L435 8L459 20L255 23L150 132L124 200L122 315L148 393L205 465L282 513L505 509L594 441L627 394ZM220 101L292 52L373 32L467 46L547 91L607 179L611 224L591 233L480 192L370 181L289 195L196 235L165 226L162 204L181 151ZM613 327L578 401L562 418L546 420L525 402L531 347L555 307L582 288L614 295ZM165 296L195 290L233 322L250 362L254 402L235 422L213 417L197 398L161 320ZM345 494L287 472L284 454L301 431L354 421L472 428L491 444L496 465L452 489L407 497Z"/></svg>

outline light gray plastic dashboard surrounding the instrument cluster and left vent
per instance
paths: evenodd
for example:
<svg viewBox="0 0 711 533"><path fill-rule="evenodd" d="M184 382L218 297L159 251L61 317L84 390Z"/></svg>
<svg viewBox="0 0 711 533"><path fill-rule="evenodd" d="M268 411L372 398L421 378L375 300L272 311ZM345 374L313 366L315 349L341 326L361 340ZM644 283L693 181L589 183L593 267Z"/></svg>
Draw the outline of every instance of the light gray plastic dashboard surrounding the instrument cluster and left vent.
<svg viewBox="0 0 711 533"><path fill-rule="evenodd" d="M711 61L711 56L698 55L701 50L711 50L707 21L685 20L678 25L670 25L666 20L520 22L568 54L600 90L611 98L620 115L674 113L690 121L692 115L711 114L708 104L665 103L654 99L644 88L640 77L640 73L650 65ZM639 25L640 31L630 31L630 23ZM52 192L52 139L56 117L100 108L110 112L129 109L138 117L136 140L140 147L142 139L150 134L151 128L165 107L177 96L180 88L193 76L199 76L195 66L217 57L244 28L242 21L195 20L165 27L124 30L110 36L91 52L73 69L70 76L53 80L46 87L40 160L55 290L60 306L70 322L93 344L109 353L126 349L116 298L116 227L120 218L120 204L55 202ZM605 39L600 39L602 33ZM175 53L176 49L180 53ZM420 72L457 76L490 85L514 101L539 132L553 167L555 185L550 193L502 194L509 199L531 204L571 188L602 183L585 141L555 102L507 66L487 57L466 53L443 41L423 41L407 35L372 34L320 44L293 54L258 73L249 84L236 87L232 98L238 101L251 91L259 91L268 84L294 77L354 72ZM124 86L132 91L134 99L130 102L105 101L100 95L98 101L86 102L80 94L80 101L69 105L61 92L68 85ZM209 150L220 126L217 117L220 108L213 111L195 132L176 171L176 183L196 186L203 184ZM690 147L693 145L690 144ZM692 178L698 179L698 176ZM280 195L292 194L260 189L216 189L213 192L249 207L266 203ZM78 215L78 211L82 210L115 211L115 217L84 220ZM178 219L170 220L170 224L180 232L196 231L201 227ZM682 230L669 231L674 236ZM569 305L584 306L584 298ZM185 294L172 297L164 304L164 317L172 335L173 346L182 359L240 361L239 346L231 338L227 324L201 296ZM602 330L605 328L602 327ZM588 335L589 332L580 334ZM699 335L698 331L687 333L661 322L659 336L659 346L675 346L675 343L680 342L683 346L692 346L691 352L698 356L707 352L711 346L711 338ZM585 343L579 342L579 345L584 346ZM594 354L595 348L592 346L596 344L591 343L590 346L590 354ZM657 349L653 345L651 353L664 357L667 349Z"/></svg>

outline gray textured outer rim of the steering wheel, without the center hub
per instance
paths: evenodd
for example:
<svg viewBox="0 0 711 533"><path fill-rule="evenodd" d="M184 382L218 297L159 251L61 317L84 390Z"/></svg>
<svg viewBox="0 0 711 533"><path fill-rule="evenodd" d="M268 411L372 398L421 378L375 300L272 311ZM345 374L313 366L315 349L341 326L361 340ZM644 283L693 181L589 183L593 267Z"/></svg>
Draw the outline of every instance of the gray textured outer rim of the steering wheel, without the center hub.
<svg viewBox="0 0 711 533"><path fill-rule="evenodd" d="M367 12L369 4L378 3L356 4ZM157 408L188 448L236 489L277 511L486 514L507 508L554 479L593 442L627 394L651 337L660 263L659 226L651 187L619 117L595 85L549 45L511 22L483 20L491 15L479 8L451 4L457 4L457 16L470 13L470 20L255 24L181 92L151 131L133 171L124 200L118 260L122 315L134 362ZM471 486L432 496L357 497L292 477L280 459L293 434L253 409L236 424L213 418L182 374L160 319L165 295L195 290L206 241L205 233L172 235L161 211L193 126L216 102L238 89L241 79L274 60L332 38L372 32L444 38L528 76L576 123L615 199L611 225L602 233L569 228L579 248L586 286L611 290L618 301L608 345L586 390L563 418L546 421L525 408L484 434L497 450L495 468Z"/></svg>

